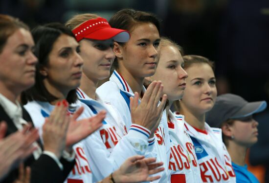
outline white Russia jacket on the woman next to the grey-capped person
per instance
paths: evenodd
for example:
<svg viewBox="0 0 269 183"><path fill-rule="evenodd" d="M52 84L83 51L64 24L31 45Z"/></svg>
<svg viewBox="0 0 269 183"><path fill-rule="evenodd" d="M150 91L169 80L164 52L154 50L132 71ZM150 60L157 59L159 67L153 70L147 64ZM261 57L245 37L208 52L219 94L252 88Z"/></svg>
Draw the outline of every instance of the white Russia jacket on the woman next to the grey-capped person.
<svg viewBox="0 0 269 183"><path fill-rule="evenodd" d="M175 116L182 117L175 113ZM186 121L184 127L195 146L195 153L204 183L236 183L230 155L222 141L222 130L211 128L205 123L205 130L192 127Z"/></svg>

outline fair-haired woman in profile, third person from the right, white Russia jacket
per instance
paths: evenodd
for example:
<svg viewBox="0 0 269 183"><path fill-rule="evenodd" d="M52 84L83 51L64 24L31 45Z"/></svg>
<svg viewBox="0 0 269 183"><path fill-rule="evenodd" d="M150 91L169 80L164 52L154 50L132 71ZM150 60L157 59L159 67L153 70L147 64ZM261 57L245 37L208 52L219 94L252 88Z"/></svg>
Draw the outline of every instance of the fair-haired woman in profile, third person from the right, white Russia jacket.
<svg viewBox="0 0 269 183"><path fill-rule="evenodd" d="M183 97L187 73L184 71L182 48L162 37L159 45L160 58L156 73L147 77L147 81L160 80L163 93L169 101L166 106L166 117L171 139L169 161L169 181L171 183L202 183L198 160L190 136L184 129L184 118L176 118L170 110L174 101Z"/></svg>

